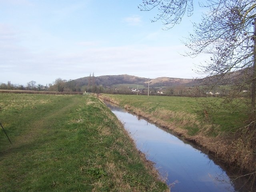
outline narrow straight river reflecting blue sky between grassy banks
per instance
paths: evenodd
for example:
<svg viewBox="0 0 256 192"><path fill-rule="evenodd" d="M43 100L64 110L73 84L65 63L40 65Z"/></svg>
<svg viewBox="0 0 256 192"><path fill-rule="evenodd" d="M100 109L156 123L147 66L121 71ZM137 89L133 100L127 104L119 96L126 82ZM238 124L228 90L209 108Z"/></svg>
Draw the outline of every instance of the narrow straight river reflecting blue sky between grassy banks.
<svg viewBox="0 0 256 192"><path fill-rule="evenodd" d="M155 163L172 192L236 192L226 172L208 155L146 120L110 102L138 150ZM240 190L239 190L240 191Z"/></svg>

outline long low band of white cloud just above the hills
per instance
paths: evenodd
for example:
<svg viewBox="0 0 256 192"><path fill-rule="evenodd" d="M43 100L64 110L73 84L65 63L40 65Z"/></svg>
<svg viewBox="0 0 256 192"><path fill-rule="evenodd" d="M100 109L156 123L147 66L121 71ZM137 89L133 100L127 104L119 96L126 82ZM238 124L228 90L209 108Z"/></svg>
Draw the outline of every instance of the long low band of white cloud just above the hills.
<svg viewBox="0 0 256 192"><path fill-rule="evenodd" d="M1 81L26 84L35 80L46 84L58 77L76 79L89 76L91 72L95 76L130 74L149 78L193 78L196 76L192 72L193 62L198 63L198 60L180 56L177 51L181 49L181 46L120 46L91 48L70 54L45 52L16 56L14 53L14 58L18 59L6 58L5 63L0 63L1 70L8 70ZM11 74L19 74L19 78L15 79ZM32 74L36 74L35 79L28 79ZM40 79L44 82L39 82Z"/></svg>

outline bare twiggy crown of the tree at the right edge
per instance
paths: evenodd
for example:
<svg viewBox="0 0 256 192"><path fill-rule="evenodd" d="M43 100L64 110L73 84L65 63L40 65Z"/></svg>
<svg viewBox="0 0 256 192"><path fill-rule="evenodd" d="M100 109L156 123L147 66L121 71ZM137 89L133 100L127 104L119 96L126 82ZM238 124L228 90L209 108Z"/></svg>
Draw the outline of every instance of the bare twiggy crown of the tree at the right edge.
<svg viewBox="0 0 256 192"><path fill-rule="evenodd" d="M202 16L202 22L194 24L194 32L185 42L191 51L187 54L210 54L210 60L200 66L199 72L218 75L218 82L236 85L235 94L250 84L252 119L255 119L255 1L208 1L205 6L210 10Z"/></svg>

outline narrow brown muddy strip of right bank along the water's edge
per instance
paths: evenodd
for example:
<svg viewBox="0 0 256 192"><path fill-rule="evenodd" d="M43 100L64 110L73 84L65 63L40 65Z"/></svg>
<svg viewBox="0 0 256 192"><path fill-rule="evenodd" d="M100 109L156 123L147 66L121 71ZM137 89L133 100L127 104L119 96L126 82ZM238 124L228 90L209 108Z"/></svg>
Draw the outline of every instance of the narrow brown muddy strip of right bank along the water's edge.
<svg viewBox="0 0 256 192"><path fill-rule="evenodd" d="M98 95L98 97L119 105L119 102L108 96ZM193 142L204 150L204 152L216 156L225 164L239 168L241 172L251 176L250 180L255 178L256 152L253 150L253 144L248 143L246 138L243 138L242 134L222 134L221 136L208 137L203 132L199 132L194 136L190 136L187 133L187 130L179 128L180 125L160 120L159 118L156 118L153 113L144 113L139 108L129 105L125 105L123 107L126 108L126 110L142 116L161 127L171 130L174 134L181 136L185 140ZM255 138L252 141L255 142Z"/></svg>

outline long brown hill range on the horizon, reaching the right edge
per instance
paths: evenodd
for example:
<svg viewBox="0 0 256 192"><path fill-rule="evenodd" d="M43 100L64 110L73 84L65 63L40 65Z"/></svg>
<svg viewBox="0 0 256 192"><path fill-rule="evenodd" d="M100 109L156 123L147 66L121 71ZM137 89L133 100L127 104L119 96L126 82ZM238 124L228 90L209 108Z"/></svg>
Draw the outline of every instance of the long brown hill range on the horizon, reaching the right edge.
<svg viewBox="0 0 256 192"><path fill-rule="evenodd" d="M148 80L150 87L172 87L172 88L188 88L193 86L220 86L220 85L241 85L247 82L251 82L252 69L247 68L226 74L217 74L208 76L201 79L184 79L184 78L170 78L170 77L158 77L154 79L148 79L143 77L132 76L128 74L122 75L104 75L104 76L88 76L71 80L67 82L72 87L82 86L104 86L104 87L135 87L142 86L148 87ZM245 85L245 84L244 84ZM72 88L73 89L73 88Z"/></svg>

